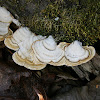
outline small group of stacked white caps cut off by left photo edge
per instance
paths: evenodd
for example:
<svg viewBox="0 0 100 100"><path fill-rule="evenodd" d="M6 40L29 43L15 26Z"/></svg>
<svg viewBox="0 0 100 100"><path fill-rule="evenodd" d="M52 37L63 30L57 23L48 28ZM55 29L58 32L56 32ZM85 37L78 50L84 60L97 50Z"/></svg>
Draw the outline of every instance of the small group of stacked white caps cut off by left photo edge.
<svg viewBox="0 0 100 100"><path fill-rule="evenodd" d="M12 22L20 26L19 21L14 19L6 8L0 7L0 41L3 41L5 37L12 34L13 31L9 28Z"/></svg>

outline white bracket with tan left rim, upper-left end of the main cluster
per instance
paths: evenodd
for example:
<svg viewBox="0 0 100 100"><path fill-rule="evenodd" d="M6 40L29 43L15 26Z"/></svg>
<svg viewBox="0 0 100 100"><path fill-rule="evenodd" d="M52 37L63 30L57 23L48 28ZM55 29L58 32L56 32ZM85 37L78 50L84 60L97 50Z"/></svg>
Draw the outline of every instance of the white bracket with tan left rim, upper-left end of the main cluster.
<svg viewBox="0 0 100 100"><path fill-rule="evenodd" d="M12 36L8 36L4 40L4 43L8 48L12 50L18 50L19 44L32 36L35 36L35 34L29 31L27 27L20 27L14 32Z"/></svg>

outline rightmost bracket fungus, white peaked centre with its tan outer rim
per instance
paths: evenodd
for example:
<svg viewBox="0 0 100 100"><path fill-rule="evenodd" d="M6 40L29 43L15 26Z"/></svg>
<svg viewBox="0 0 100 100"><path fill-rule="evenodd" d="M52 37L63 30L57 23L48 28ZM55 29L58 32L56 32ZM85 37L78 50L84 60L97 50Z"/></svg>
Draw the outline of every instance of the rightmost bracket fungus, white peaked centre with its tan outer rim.
<svg viewBox="0 0 100 100"><path fill-rule="evenodd" d="M77 66L86 63L95 56L95 48L92 46L82 46L79 41L74 41L65 47L65 57L67 66Z"/></svg>

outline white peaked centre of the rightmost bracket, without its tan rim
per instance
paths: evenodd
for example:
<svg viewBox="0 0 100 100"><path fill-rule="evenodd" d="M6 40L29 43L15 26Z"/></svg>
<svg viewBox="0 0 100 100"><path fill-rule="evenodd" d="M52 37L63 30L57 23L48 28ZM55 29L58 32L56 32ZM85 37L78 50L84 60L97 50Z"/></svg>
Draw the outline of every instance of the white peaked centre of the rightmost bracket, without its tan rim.
<svg viewBox="0 0 100 100"><path fill-rule="evenodd" d="M65 57L71 62L77 62L87 58L89 52L82 47L82 43L79 41L72 42L65 48Z"/></svg>

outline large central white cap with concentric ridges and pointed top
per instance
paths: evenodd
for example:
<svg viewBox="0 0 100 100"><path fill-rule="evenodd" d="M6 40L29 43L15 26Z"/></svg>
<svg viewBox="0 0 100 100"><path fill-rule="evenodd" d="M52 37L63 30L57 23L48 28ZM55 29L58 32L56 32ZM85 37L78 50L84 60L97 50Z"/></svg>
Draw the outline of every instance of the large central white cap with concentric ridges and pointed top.
<svg viewBox="0 0 100 100"><path fill-rule="evenodd" d="M43 63L58 62L64 56L64 51L57 47L52 36L36 41L33 43L32 49L37 59Z"/></svg>

